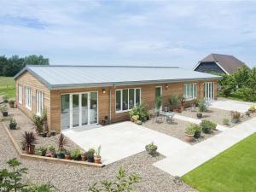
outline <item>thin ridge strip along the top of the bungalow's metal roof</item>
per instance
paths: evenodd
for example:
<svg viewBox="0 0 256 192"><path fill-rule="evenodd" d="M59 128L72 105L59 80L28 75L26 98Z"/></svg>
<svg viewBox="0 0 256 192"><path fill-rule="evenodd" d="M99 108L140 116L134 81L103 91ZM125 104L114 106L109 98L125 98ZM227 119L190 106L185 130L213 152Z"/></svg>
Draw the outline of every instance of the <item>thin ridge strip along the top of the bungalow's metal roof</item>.
<svg viewBox="0 0 256 192"><path fill-rule="evenodd" d="M26 65L26 67L138 67L138 68L179 68L169 66L89 66L89 65Z"/></svg>

